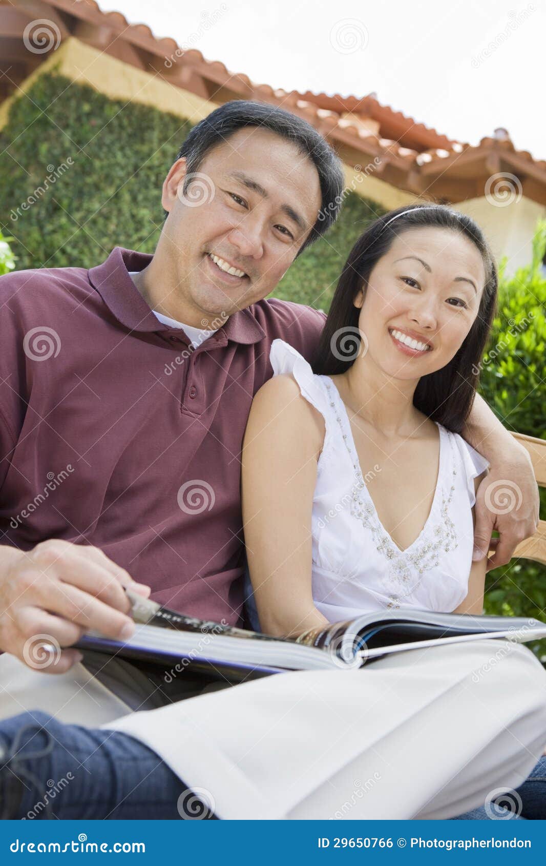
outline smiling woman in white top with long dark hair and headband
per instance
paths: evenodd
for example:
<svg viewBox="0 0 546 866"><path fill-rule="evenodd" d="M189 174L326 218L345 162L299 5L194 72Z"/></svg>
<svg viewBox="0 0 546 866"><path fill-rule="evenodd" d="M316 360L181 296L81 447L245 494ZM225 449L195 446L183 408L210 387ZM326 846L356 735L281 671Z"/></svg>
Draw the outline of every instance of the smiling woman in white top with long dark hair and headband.
<svg viewBox="0 0 546 866"><path fill-rule="evenodd" d="M496 292L478 226L414 206L357 241L314 367L273 341L242 459L264 630L294 637L390 607L482 611L473 509L489 463L459 432Z"/></svg>

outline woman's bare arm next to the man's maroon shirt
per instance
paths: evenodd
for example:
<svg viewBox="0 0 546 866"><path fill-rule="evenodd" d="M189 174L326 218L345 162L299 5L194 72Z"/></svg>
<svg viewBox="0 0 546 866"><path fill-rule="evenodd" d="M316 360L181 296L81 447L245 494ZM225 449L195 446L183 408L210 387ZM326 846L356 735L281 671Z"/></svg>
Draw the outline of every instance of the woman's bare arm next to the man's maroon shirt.
<svg viewBox="0 0 546 866"><path fill-rule="evenodd" d="M241 499L260 624L276 637L328 622L312 599L312 500L323 442L324 418L291 376L262 385L243 441Z"/></svg>

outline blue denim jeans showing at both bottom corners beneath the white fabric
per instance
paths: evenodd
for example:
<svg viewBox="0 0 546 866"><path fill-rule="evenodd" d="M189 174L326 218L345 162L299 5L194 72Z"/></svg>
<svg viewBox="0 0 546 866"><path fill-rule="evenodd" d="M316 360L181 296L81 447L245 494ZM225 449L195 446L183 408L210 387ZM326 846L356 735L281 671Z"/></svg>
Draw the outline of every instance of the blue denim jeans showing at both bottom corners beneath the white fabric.
<svg viewBox="0 0 546 866"><path fill-rule="evenodd" d="M499 805L453 820L546 818L545 803L543 757ZM187 820L216 818L213 810L207 792L196 797L155 752L120 731L65 725L39 710L0 721L2 818Z"/></svg>

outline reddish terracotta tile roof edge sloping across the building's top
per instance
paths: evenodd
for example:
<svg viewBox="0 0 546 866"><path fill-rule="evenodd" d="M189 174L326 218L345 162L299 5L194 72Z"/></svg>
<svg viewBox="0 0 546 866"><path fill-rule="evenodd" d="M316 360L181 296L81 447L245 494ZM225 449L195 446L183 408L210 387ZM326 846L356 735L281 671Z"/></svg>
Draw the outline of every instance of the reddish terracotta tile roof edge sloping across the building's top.
<svg viewBox="0 0 546 866"><path fill-rule="evenodd" d="M23 0L0 0L0 6L6 4L20 6L24 14L29 16L29 20L32 20L32 13ZM74 23L78 20L85 21L86 36L78 36L84 42L86 37L89 38L89 27L93 29L93 25L96 25L100 29L105 26L110 28L114 38L103 48L106 53L114 56L120 54L119 42L130 42L137 55L140 49L149 53L142 55L141 68L148 66L153 74L164 74L166 80L169 79L170 67L158 71L161 63L156 61L155 65L150 64L149 55L170 59L171 67L191 69L192 74L184 76L183 87L192 90L196 87L194 82L201 80L201 86L194 91L198 95L214 93L213 99L218 100L219 87L226 87L228 93L237 94L241 99L261 99L292 110L327 136L342 157L348 162L352 161L353 165L362 162L362 157L368 158L372 154L381 157L382 179L401 189L414 190L415 178L426 168L427 178L424 185L429 195L441 196L442 183L445 184L448 180L452 184L452 197L453 194L459 194L464 198L464 184L469 178L468 165L472 163L472 177L487 178L491 172L487 173L485 164L491 165L491 161L487 161L494 158L500 160L499 165L502 164L504 171L517 171L519 168L520 171L530 172L534 184L530 195L546 204L546 162L534 159L529 151L517 151L509 133L503 127L498 127L492 137L481 139L479 145L468 145L449 139L432 127L416 123L401 111L382 105L375 92L362 97L343 96L324 92L314 94L309 90L299 93L295 90L274 89L268 84L256 84L247 74L230 72L221 61L206 60L196 48L183 50L169 36L157 38L145 23L129 23L118 11L103 12L95 0L43 0L41 5L51 9L52 18L57 16L61 23L68 22L62 29L68 34L71 32L71 20ZM40 60L45 59L45 56L40 55ZM29 62L29 58L27 61ZM35 56L32 61L35 66ZM1 69L0 67L0 71ZM358 156L358 152L362 155ZM466 169L460 176L459 191L453 193L453 180L458 178L457 172L463 164ZM437 182L433 180L435 166L438 166ZM412 174L411 183L408 181L409 172ZM536 180L539 184L536 184ZM468 197L475 195L475 186L475 183L468 185Z"/></svg>

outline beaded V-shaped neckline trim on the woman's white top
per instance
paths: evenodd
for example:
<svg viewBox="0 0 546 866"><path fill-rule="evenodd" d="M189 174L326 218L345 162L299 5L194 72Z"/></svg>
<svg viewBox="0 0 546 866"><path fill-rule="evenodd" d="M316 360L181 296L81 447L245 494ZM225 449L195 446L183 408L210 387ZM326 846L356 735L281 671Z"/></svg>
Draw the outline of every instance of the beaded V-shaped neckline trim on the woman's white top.
<svg viewBox="0 0 546 866"><path fill-rule="evenodd" d="M422 527L421 532L419 533L417 538L408 547L405 547L404 550L401 550L401 548L396 544L395 540L393 540L392 536L387 532L385 527L383 527L382 522L379 519L379 515L377 514L377 509L376 509L376 506L374 504L374 501L372 500L372 498L369 494L369 490L367 488L367 485L364 483L363 473L362 473L362 469L361 469L360 462L358 459L357 448L355 446L354 438L352 435L352 430L350 427L349 414L347 412L344 401L341 398L341 394L337 390L337 385L333 382L333 380L329 376L324 376L324 381L325 381L326 388L328 390L328 395L330 398L330 405L331 405L331 407L336 409L337 423L339 424L339 426L341 428L344 443L345 443L345 446L349 452L349 456L350 456L351 462L353 464L353 469L355 470L356 483L353 487L353 506L354 507L352 509L352 513L353 514L356 513L357 516L359 516L359 517L362 517L362 515L364 514L365 517L368 518L368 522L369 522L369 519L372 520L372 522L375 524L376 534L380 534L382 536L382 545L381 545L382 552L386 553L386 555L389 559L394 559L394 558L395 559L407 559L407 558L409 558L409 559L412 559L412 561L413 561L414 557L412 556L412 553L414 552L414 548L416 548L418 546L421 546L421 548L422 548L422 542L429 533L432 533L433 535L434 534L436 534L436 535L440 534L437 532L437 527L433 527L433 523L434 523L434 520L436 520L436 522L438 520L437 519L438 501L440 499L440 496L442 496L442 493L443 493L443 491L442 491L442 487L443 487L442 479L443 479L443 475L445 472L444 464L445 464L445 460L446 460L446 441L445 441L446 432L444 430L442 430L441 425L438 424L438 430L440 433L440 456L439 456L439 465L438 465L438 477L437 477L437 481L436 481L436 488L434 490L434 498L433 498L432 506L431 506L430 512L427 516L427 520L425 521L425 524ZM335 402L331 398L332 397L332 394L331 394L332 389L334 391L335 396L337 397L337 407L336 407ZM453 480L454 480L454 475L456 474L456 469L454 469L454 467L453 467L452 471L453 471L453 475L452 475L451 490L449 492L447 499L445 496L443 496L443 498L442 498L441 512L442 512L443 520L446 519L445 506L448 505L449 502L451 501L453 489L454 489ZM364 503L362 502L362 499L361 499L361 492L366 499L366 502L364 502ZM449 521L449 522L451 523L451 521ZM442 533L442 535L443 535L443 533ZM452 540L454 540L454 539L452 539ZM456 543L455 543L455 546L457 546ZM446 546L446 549L447 549L447 546ZM378 550L379 550L379 547L378 547Z"/></svg>

